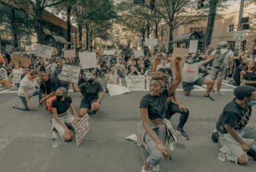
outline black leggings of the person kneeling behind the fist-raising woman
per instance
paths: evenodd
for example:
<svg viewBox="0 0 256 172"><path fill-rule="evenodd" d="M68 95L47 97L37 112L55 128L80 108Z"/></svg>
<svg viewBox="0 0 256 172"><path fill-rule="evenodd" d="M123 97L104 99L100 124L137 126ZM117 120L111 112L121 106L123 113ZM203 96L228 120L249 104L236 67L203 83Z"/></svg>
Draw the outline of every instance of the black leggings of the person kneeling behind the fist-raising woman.
<svg viewBox="0 0 256 172"><path fill-rule="evenodd" d="M188 109L187 109L187 112L182 111L180 110L177 104L172 102L168 103L168 115L166 116L166 118L170 120L170 118L176 113L180 114L180 122L179 122L178 128L183 128L188 120L190 111Z"/></svg>

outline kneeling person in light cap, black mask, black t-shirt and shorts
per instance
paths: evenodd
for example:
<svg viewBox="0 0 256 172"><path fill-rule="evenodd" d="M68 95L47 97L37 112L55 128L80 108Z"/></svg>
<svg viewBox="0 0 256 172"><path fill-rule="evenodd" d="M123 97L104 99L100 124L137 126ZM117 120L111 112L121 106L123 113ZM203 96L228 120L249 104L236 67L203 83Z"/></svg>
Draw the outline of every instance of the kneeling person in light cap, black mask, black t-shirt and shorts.
<svg viewBox="0 0 256 172"><path fill-rule="evenodd" d="M82 83L79 87L72 83L74 93L81 92L83 96L80 104L80 116L88 114L90 108L92 108L92 116L97 116L97 111L100 110L100 102L104 97L104 90L102 85L95 81L92 73L88 73L86 79L87 82Z"/></svg>

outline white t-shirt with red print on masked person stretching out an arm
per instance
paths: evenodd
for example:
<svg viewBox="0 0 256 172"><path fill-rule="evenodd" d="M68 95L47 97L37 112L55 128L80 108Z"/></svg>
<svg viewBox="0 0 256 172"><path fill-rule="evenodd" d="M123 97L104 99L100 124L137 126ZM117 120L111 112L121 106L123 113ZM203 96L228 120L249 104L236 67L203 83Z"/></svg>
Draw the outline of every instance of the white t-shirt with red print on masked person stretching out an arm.
<svg viewBox="0 0 256 172"><path fill-rule="evenodd" d="M182 69L182 78L186 83L193 83L199 78L198 69L203 64L203 62L198 62L194 64L185 63Z"/></svg>

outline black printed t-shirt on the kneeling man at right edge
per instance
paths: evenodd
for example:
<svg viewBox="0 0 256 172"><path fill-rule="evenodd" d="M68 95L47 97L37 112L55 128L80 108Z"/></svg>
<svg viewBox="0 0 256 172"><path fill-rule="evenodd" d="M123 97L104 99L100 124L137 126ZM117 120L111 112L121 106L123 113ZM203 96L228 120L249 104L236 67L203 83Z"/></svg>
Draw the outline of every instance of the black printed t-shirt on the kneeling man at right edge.
<svg viewBox="0 0 256 172"><path fill-rule="evenodd" d="M228 124L235 130L241 130L248 124L250 117L251 107L243 108L234 99L224 107L216 124L216 129L218 132L226 134L227 130L224 125Z"/></svg>

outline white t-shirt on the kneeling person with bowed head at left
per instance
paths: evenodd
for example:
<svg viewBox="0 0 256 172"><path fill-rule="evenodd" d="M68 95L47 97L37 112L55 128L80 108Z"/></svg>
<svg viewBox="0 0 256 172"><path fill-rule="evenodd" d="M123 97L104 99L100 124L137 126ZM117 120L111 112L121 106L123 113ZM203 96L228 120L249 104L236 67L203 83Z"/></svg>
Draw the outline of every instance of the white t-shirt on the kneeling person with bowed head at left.
<svg viewBox="0 0 256 172"><path fill-rule="evenodd" d="M25 97L24 95L24 87L27 87L29 96L32 96L35 93L36 86L37 86L37 80L34 79L34 81L29 80L29 75L25 75L23 79L21 80L21 83L19 85L19 91L18 95L21 97Z"/></svg>

